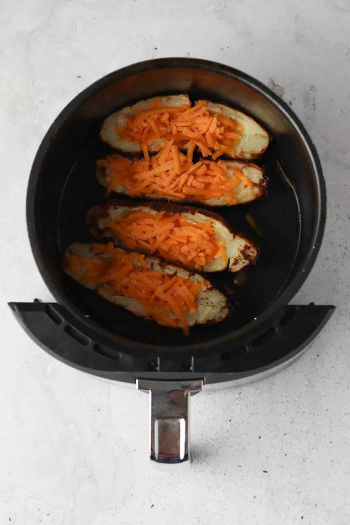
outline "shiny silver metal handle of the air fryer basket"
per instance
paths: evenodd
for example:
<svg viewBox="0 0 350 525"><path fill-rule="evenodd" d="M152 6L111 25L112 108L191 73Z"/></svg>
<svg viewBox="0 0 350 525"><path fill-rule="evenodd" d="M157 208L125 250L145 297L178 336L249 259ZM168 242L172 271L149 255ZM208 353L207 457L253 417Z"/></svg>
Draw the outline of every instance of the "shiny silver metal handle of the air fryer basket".
<svg viewBox="0 0 350 525"><path fill-rule="evenodd" d="M136 388L150 393L151 459L182 463L190 459L189 401L203 380L153 381L138 379Z"/></svg>

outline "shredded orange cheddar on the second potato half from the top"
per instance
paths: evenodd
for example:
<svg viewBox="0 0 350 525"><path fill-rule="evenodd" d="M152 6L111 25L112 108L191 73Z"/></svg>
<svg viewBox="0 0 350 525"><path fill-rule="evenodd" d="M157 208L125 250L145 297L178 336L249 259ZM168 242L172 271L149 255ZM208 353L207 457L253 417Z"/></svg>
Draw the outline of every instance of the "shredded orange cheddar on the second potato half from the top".
<svg viewBox="0 0 350 525"><path fill-rule="evenodd" d="M230 176L221 162L192 162L194 142L189 142L187 156L169 140L156 155L147 160L125 159L109 155L98 160L97 166L109 169L107 195L118 186L128 188L131 196L157 196L172 201L203 202L226 196L227 204L236 204L236 191L251 188L251 180L237 167L230 165ZM148 155L148 153L147 153ZM243 183L243 186L240 184Z"/></svg>

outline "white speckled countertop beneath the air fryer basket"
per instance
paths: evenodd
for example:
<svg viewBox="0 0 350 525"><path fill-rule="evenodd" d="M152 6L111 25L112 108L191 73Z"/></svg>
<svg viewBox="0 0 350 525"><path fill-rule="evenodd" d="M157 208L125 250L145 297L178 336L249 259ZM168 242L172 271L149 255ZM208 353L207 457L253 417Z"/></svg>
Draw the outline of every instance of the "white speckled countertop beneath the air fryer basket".
<svg viewBox="0 0 350 525"><path fill-rule="evenodd" d="M2 0L0 28L0 523L348 525L348 0ZM328 217L294 302L337 309L288 369L195 396L194 463L162 471L147 457L147 396L51 358L6 302L50 300L29 248L25 193L52 120L102 75L176 55L246 71L306 125Z"/></svg>

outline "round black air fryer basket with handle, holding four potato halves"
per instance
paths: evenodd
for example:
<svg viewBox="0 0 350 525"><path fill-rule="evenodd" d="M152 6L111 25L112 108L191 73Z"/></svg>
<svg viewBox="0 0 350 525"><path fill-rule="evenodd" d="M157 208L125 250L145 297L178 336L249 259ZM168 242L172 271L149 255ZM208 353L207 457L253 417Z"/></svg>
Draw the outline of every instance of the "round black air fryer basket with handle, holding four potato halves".
<svg viewBox="0 0 350 525"><path fill-rule="evenodd" d="M258 264L235 276L211 274L230 290L234 314L197 325L189 337L113 307L62 270L76 240L90 242L88 207L104 199L94 163L105 153L99 127L137 100L188 93L191 100L225 102L250 114L272 135L261 163L266 198L219 208L233 229L255 238ZM27 193L28 233L37 266L57 303L10 303L29 335L57 359L151 393L151 457L188 459L189 394L217 384L242 384L292 362L333 312L332 306L288 306L319 251L325 184L315 147L290 107L266 86L215 62L167 58L114 71L82 91L60 113L40 144ZM252 229L258 225L259 235ZM310 298L312 300L312 298Z"/></svg>

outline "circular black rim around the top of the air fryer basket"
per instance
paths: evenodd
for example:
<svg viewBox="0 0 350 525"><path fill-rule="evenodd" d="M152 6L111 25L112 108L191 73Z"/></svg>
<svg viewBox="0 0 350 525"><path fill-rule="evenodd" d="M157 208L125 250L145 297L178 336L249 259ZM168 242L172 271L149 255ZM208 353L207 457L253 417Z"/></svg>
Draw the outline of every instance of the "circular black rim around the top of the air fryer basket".
<svg viewBox="0 0 350 525"><path fill-rule="evenodd" d="M142 347L144 350L154 351L155 348L159 349L159 351L190 351L197 348L198 344L187 344L182 346L167 346L164 348L163 346L155 346L149 343L140 343L136 341L131 341L130 339L126 339L124 337L121 337L118 334L112 333L104 328L102 328L97 322L91 321L90 319L87 319L83 316L82 312L72 303L67 302L66 297L61 292L58 286L56 286L56 283L52 280L50 276L50 272L48 271L48 268L46 267L44 258L41 254L41 248L39 243L39 238L37 236L36 229L34 227L34 202L35 202L35 192L36 192L36 184L38 175L40 172L41 163L43 162L43 159L45 158L46 152L50 146L52 138L55 136L56 132L60 129L61 125L67 117L70 115L70 113L74 110L76 110L80 104L82 104L84 101L89 99L95 92L103 89L104 87L108 86L111 82L114 82L116 80L120 80L122 78L134 75L136 73L140 73L143 71L149 71L152 69L162 69L162 68L190 68L190 69L201 69L201 70L207 70L211 72L215 72L216 74L221 74L225 76L229 76L235 79L238 79L239 81L245 83L249 87L253 88L254 90L258 91L263 97L267 98L272 102L272 104L277 107L277 109L284 114L288 118L288 120L293 124L294 128L298 131L300 138L303 141L304 148L309 155L309 158L312 162L314 173L316 174L316 205L317 205L317 214L316 214L316 220L315 220L315 227L313 230L312 239L309 244L309 248L307 249L307 252L305 254L305 257L303 258L303 261L301 262L300 268L296 275L293 277L289 285L283 290L281 295L265 310L263 311L260 316L248 324L244 325L240 329L235 331L235 338L240 337L242 334L249 332L252 328L257 328L258 325L266 323L268 319L272 316L273 313L275 313L278 309L281 309L285 306L296 294L296 292L299 291L300 287L304 283L306 277L309 275L314 262L316 260L317 254L319 253L323 233L324 233L324 226L325 226L325 218L326 218L326 190L325 190L325 182L324 177L322 173L322 167L319 160L319 156L317 155L315 146L309 137L309 134L307 134L303 124L299 120L298 117L295 116L294 112L291 110L291 108L288 106L287 103L285 103L282 99L277 97L268 87L264 86L263 83L260 81L254 79L253 77L250 77L249 75L243 73L242 71L238 69L231 68L226 65L218 64L217 62L203 60L203 59L195 59L195 58L181 58L181 57L174 57L174 58L160 58L160 59L153 59L153 60L146 60L142 62L137 62L136 64L126 66L124 68L121 68L119 70L113 71L110 74L102 77L101 79L97 80L96 82L92 83L89 87L81 91L71 102L67 104L67 106L60 112L58 117L55 119L55 121L51 124L49 130L45 134L45 137L43 141L41 142L37 154L35 156L33 165L31 167L30 176L29 176L29 182L28 182L28 189L27 189L27 202L26 202L26 216L27 216L27 228L28 228L28 235L30 240L31 249L33 251L33 255L37 264L37 267L40 271L41 276L43 277L46 286L52 293L52 295L57 299L57 301L61 304L64 304L66 308L75 316L78 318L84 325L89 326L90 328L93 328L94 330L99 331L100 333L103 333L105 337L108 337L112 340L119 340L122 341L124 344L126 344L130 349L137 348L140 349ZM211 339L207 342L201 343L201 349L210 349L211 346L216 346L220 344L224 344L225 342L228 342L232 340L232 332L223 336L220 336L215 339Z"/></svg>

